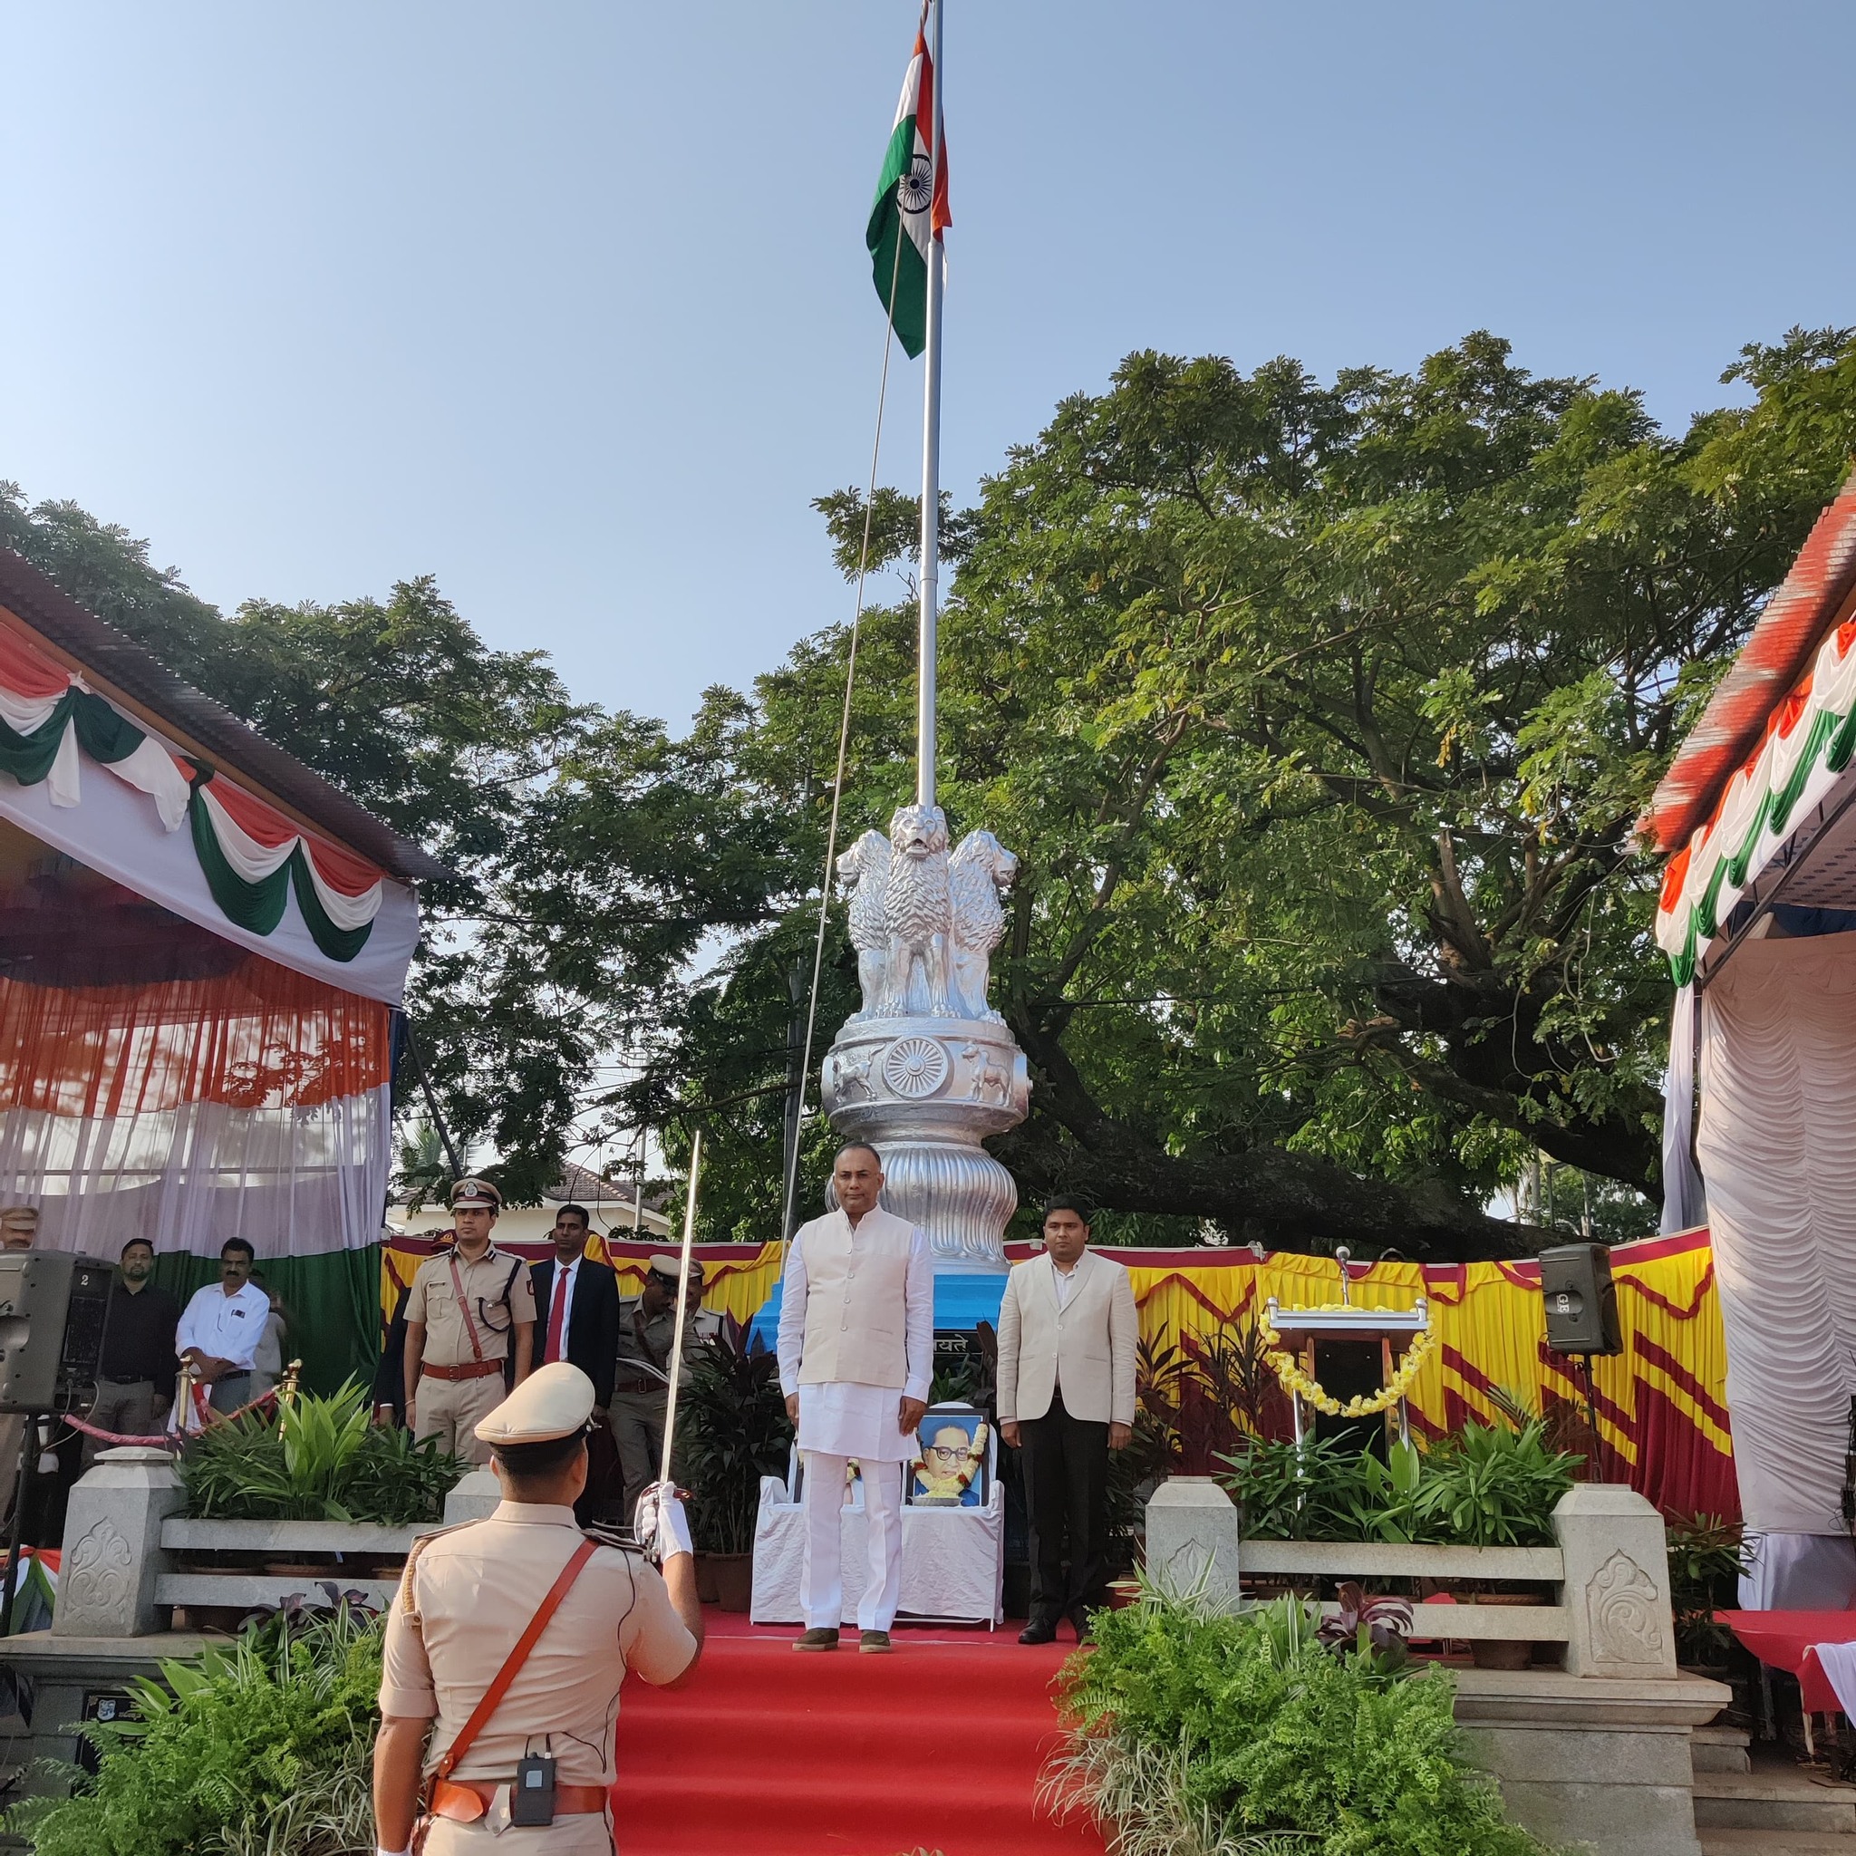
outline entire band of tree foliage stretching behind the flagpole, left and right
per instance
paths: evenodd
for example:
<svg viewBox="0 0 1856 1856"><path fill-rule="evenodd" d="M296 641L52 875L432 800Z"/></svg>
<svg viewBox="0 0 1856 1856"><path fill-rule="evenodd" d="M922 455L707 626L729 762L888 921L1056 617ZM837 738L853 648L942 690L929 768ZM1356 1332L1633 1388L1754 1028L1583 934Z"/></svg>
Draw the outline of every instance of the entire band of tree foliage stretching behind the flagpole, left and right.
<svg viewBox="0 0 1856 1856"><path fill-rule="evenodd" d="M995 1000L1034 1112L995 1153L1026 1195L1496 1255L1526 1234L1485 1206L1544 1153L1611 1229L1648 1216L1669 986L1633 822L1856 442L1845 332L1730 379L1745 405L1665 432L1487 334L1333 382L1132 354L943 512L939 796L1023 859ZM861 497L818 507L856 574ZM913 535L883 492L869 568ZM429 579L221 618L72 505L7 486L0 542L458 872L410 1000L512 1195L596 1130L676 1156L702 1110L707 1232L778 1229L843 627L679 737ZM870 609L843 841L911 793L913 683L913 612ZM854 1002L833 917L811 1102Z"/></svg>

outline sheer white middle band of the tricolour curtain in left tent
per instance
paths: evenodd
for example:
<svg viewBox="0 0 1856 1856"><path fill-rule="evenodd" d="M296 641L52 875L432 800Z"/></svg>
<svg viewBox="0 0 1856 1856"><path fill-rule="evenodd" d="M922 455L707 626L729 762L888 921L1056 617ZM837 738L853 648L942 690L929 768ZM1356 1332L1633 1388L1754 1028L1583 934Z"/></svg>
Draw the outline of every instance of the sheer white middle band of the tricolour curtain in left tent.
<svg viewBox="0 0 1856 1856"><path fill-rule="evenodd" d="M260 1257L375 1244L390 1166L384 1086L312 1106L0 1112L0 1203L39 1206L39 1242L85 1257L130 1238L197 1257L226 1238Z"/></svg>

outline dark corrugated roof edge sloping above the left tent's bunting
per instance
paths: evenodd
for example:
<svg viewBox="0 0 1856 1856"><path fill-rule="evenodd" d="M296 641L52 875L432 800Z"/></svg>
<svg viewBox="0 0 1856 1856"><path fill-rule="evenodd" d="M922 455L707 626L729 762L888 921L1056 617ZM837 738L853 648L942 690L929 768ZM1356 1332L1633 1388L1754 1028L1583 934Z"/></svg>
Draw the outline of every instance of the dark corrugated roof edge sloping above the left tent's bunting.
<svg viewBox="0 0 1856 1856"><path fill-rule="evenodd" d="M340 787L312 772L293 754L269 742L230 709L184 683L152 651L87 612L32 562L0 548L0 605L74 657L100 683L115 685L132 702L167 722L200 757L243 774L271 798L291 807L338 844L367 857L401 882L455 878L412 839L401 837L371 811L356 806Z"/></svg>

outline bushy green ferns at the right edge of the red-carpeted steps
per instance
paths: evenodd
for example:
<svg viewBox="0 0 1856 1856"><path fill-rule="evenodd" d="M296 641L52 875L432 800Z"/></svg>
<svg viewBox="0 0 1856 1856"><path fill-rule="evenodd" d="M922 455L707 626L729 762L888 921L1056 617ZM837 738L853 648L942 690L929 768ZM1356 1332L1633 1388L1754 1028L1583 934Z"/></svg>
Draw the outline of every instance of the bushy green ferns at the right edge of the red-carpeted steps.
<svg viewBox="0 0 1856 1856"><path fill-rule="evenodd" d="M1321 1648L1294 1604L1212 1617L1149 1592L1093 1630L1050 1785L1125 1856L1539 1856L1468 1765L1446 1670Z"/></svg>

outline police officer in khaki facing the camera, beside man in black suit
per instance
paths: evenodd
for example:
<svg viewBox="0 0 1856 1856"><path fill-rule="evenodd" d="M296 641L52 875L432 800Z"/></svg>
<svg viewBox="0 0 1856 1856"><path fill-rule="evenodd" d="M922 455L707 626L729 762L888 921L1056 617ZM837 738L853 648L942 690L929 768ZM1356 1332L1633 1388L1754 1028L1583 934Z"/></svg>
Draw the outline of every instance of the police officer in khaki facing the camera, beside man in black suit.
<svg viewBox="0 0 1856 1856"><path fill-rule="evenodd" d="M483 1418L535 1359L535 1284L520 1257L490 1242L503 1195L486 1179L451 1188L457 1245L419 1264L406 1295L406 1427L470 1463L488 1463Z"/></svg>

